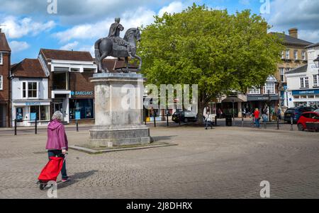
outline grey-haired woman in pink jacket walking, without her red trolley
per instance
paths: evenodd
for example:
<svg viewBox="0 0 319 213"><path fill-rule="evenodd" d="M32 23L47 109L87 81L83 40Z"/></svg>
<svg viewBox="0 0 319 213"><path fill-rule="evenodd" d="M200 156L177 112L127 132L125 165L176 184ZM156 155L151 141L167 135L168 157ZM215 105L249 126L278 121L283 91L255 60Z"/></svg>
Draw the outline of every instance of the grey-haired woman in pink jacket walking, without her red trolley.
<svg viewBox="0 0 319 213"><path fill-rule="evenodd" d="M52 122L47 126L47 154L50 157L62 157L65 158L65 154L69 149L67 142L67 134L65 133L65 126L62 124L63 114L57 111L52 116ZM62 182L69 181L67 176L67 168L65 161L62 167Z"/></svg>

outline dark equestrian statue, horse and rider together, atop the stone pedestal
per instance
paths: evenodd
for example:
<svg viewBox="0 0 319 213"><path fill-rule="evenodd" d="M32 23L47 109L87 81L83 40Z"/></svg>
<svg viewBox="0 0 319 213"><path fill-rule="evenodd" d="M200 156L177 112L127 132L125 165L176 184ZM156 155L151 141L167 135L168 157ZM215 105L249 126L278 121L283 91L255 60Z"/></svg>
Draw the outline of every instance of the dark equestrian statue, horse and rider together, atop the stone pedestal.
<svg viewBox="0 0 319 213"><path fill-rule="evenodd" d="M95 59L99 72L110 72L106 67L103 67L102 63L103 59L108 56L125 58L125 73L129 72L128 57L132 59L136 58L140 61L138 71L140 71L142 67L142 59L136 54L136 44L140 42L140 29L130 28L126 31L124 38L121 38L120 33L124 28L120 22L121 18L116 18L115 23L111 25L108 37L101 38L95 42Z"/></svg>

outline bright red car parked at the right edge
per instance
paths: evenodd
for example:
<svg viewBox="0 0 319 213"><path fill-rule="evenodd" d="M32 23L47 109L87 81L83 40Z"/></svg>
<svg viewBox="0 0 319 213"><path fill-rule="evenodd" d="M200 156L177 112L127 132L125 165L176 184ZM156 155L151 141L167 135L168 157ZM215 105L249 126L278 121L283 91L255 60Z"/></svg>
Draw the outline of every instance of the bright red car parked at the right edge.
<svg viewBox="0 0 319 213"><path fill-rule="evenodd" d="M313 124L308 124L308 122L311 122ZM309 130L309 126L311 126L311 130L319 130L319 113L316 112L308 112L303 113L301 117L299 118L298 122L298 130L304 131L305 129Z"/></svg>

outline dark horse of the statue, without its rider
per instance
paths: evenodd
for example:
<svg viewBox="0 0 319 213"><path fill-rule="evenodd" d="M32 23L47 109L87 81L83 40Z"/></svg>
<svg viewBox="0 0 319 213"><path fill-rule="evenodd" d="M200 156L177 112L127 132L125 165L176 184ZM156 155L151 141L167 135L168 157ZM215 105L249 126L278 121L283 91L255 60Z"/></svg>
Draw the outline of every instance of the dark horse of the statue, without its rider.
<svg viewBox="0 0 319 213"><path fill-rule="evenodd" d="M140 29L139 28L130 28L126 31L125 36L123 38L125 42L128 42L129 47L124 45L118 45L116 42L113 42L110 38L101 38L95 42L95 59L96 65L98 67L98 71L102 73L110 72L106 67L103 67L103 59L108 56L116 57L116 58L125 58L126 71L129 72L128 69L128 57L136 58L140 61L138 66L138 71L140 71L142 67L142 59L136 54L136 44L137 41L140 42ZM129 52L128 49L131 51Z"/></svg>

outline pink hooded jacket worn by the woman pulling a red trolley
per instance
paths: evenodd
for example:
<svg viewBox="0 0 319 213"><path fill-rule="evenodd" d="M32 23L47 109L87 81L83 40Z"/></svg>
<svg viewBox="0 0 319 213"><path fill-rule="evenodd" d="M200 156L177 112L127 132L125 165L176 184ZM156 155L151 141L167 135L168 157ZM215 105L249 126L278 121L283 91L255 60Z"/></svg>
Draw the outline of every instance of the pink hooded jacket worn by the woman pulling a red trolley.
<svg viewBox="0 0 319 213"><path fill-rule="evenodd" d="M65 127L58 120L52 120L47 126L47 150L62 150L68 151L67 134Z"/></svg>

